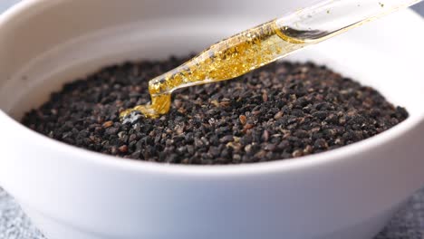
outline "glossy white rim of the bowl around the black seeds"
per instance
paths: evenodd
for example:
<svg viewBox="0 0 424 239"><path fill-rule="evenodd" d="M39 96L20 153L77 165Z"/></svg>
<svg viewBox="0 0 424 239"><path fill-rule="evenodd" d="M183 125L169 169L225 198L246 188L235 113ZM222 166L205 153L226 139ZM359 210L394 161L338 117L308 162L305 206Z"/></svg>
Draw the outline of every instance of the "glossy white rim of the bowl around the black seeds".
<svg viewBox="0 0 424 239"><path fill-rule="evenodd" d="M34 11L35 5L46 4L59 4L60 2L46 1L46 0L27 0L18 2L16 5L0 14L0 28L7 24L8 21L14 17L25 14L28 11ZM424 26L424 19L419 14L416 14L410 9L405 10L407 14L415 15L417 20L421 19L420 24ZM419 24L419 21L417 21ZM368 151L372 148L378 148L390 140L400 139L402 135L413 130L420 122L424 122L424 112L418 115L410 116L408 119L400 122L399 125L388 129L381 134L373 136L369 139L363 139L351 145L335 148L318 154L303 156L300 158L277 159L267 162L256 162L250 164L237 164L237 165L179 165L179 164L165 164L158 162L149 162L144 160L136 160L130 158L120 158L111 155L102 154L99 152L91 151L84 148L78 148L68 145L56 139L50 139L41 133L29 129L22 125L19 121L13 119L11 116L0 110L0 119L5 119L5 124L10 124L16 131L21 131L22 136L26 139L32 139L35 145L48 146L54 148L65 154L72 154L74 160L80 160L83 164L93 164L102 167L113 167L115 169L130 170L132 172L150 171L154 173L184 175L184 176L203 176L203 177L222 177L222 176L246 176L246 175L260 175L272 172L292 171L302 169L305 167L316 167L325 164L331 164L343 158L352 157L359 151Z"/></svg>

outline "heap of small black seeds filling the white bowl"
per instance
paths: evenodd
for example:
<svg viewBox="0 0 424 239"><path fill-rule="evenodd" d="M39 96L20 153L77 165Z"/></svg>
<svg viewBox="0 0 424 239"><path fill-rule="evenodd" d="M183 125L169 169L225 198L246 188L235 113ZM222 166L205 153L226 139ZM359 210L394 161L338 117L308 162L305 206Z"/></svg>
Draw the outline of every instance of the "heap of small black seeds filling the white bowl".
<svg viewBox="0 0 424 239"><path fill-rule="evenodd" d="M24 125L93 151L176 164L295 158L370 138L408 117L378 91L311 62L278 62L237 80L178 90L159 119L121 110L149 101L148 81L187 59L115 65L66 84Z"/></svg>

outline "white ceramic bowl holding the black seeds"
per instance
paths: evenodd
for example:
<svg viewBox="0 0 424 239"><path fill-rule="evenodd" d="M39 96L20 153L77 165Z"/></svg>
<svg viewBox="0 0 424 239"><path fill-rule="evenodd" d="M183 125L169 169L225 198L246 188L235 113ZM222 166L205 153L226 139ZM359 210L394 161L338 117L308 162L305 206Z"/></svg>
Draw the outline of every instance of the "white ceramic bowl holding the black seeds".
<svg viewBox="0 0 424 239"><path fill-rule="evenodd" d="M424 182L424 23L408 10L294 55L410 111L399 126L351 146L253 165L162 165L74 148L17 120L103 65L198 51L306 2L14 6L0 16L0 184L50 239L371 238Z"/></svg>

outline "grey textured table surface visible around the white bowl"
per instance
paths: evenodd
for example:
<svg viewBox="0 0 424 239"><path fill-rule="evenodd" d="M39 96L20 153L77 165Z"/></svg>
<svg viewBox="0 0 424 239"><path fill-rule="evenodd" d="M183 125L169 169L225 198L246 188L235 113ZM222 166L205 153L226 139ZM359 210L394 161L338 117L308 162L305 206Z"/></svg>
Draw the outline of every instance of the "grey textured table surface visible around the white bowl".
<svg viewBox="0 0 424 239"><path fill-rule="evenodd" d="M16 2L18 1L0 0L0 13ZM412 8L424 16L424 2ZM45 239L24 215L14 199L1 188L0 239ZM410 198L410 201L375 239L424 239L424 189Z"/></svg>

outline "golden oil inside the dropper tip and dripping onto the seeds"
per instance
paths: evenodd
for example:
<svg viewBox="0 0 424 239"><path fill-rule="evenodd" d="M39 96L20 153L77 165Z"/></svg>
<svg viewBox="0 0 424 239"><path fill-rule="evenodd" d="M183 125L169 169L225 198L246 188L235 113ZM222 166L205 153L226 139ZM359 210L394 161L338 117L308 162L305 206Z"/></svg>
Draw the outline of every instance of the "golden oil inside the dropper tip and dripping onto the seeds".
<svg viewBox="0 0 424 239"><path fill-rule="evenodd" d="M120 117L136 110L145 117L157 118L169 111L172 91L236 78L308 44L293 37L290 31L271 21L212 45L178 68L149 81L151 102L124 110Z"/></svg>

